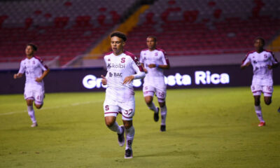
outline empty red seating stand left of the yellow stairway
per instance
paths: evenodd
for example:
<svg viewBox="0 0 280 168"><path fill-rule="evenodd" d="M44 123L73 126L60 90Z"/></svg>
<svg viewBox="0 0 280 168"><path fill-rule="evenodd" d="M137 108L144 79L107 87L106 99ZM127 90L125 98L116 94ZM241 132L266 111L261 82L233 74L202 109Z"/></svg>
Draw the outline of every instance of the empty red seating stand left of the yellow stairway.
<svg viewBox="0 0 280 168"><path fill-rule="evenodd" d="M0 61L19 61L32 42L36 55L59 55L64 65L118 24L135 1L1 1Z"/></svg>

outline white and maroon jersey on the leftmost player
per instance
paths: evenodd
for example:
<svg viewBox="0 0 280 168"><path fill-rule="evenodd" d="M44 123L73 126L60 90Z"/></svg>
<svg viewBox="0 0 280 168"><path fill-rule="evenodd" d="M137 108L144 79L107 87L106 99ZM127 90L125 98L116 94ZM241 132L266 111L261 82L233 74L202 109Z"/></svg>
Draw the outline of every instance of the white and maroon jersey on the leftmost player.
<svg viewBox="0 0 280 168"><path fill-rule="evenodd" d="M25 58L20 62L20 70L18 73L25 73L25 87L35 87L42 86L43 80L38 83L36 82L36 78L42 76L42 71L46 71L48 66L43 65L43 61L38 57L31 57L31 59Z"/></svg>

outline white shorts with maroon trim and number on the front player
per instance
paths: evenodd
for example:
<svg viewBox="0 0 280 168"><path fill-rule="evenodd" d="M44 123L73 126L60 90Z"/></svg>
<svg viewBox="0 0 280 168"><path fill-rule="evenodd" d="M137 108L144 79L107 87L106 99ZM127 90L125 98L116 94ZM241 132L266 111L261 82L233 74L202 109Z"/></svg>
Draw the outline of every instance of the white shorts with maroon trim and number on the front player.
<svg viewBox="0 0 280 168"><path fill-rule="evenodd" d="M132 120L135 111L135 101L116 102L111 99L105 99L103 108L105 117L117 117L118 113L120 113L123 116L123 120Z"/></svg>

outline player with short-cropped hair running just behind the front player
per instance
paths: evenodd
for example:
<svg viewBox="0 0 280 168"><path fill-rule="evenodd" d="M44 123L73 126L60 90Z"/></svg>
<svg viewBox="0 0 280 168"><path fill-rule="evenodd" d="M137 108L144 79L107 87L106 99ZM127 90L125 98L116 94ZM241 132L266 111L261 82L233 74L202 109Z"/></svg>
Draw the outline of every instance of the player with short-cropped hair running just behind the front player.
<svg viewBox="0 0 280 168"><path fill-rule="evenodd" d="M169 60L164 50L156 48L157 38L155 36L148 36L146 43L148 48L141 50L140 53L140 62L146 73L143 85L144 98L148 108L154 112L153 119L155 122L158 122L160 111L162 118L160 131L165 132L167 118L165 97L167 94L167 86L165 84L163 69L169 69ZM154 94L158 97L160 109L155 107L153 103Z"/></svg>

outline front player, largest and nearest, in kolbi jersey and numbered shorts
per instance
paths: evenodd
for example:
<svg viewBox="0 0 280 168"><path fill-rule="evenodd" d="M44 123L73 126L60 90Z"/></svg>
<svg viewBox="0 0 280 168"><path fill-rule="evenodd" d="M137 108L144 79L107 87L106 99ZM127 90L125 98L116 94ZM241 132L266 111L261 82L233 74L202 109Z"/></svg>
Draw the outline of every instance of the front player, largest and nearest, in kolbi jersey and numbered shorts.
<svg viewBox="0 0 280 168"><path fill-rule="evenodd" d="M104 101L104 116L107 127L118 134L118 144L125 144L125 158L132 158L132 141L134 127L132 117L135 111L135 99L132 81L145 77L143 67L131 52L123 50L125 34L115 31L111 34L111 48L104 56L107 66L106 77L102 76L102 84L107 85ZM136 73L135 73L136 72ZM122 114L123 125L116 122L118 113ZM125 137L124 137L125 134Z"/></svg>

